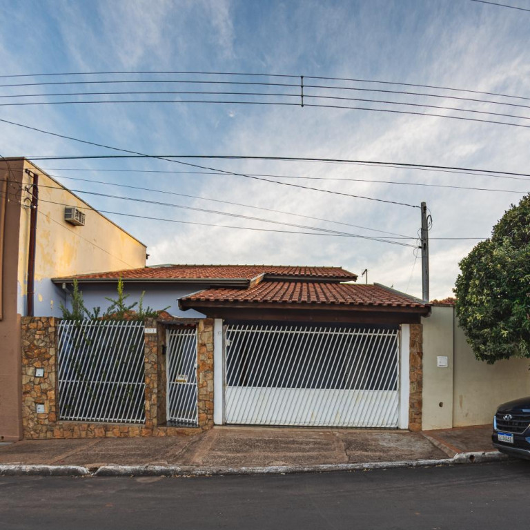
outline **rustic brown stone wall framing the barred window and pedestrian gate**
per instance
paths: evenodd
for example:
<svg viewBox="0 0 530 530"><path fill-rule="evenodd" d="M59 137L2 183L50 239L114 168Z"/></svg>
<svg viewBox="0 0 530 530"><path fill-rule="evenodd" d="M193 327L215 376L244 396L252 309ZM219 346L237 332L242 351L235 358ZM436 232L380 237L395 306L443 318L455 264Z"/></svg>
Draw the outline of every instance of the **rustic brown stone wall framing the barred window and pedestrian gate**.
<svg viewBox="0 0 530 530"><path fill-rule="evenodd" d="M162 346L166 326L146 320L145 424L70 422L58 420L57 402L57 319L23 317L21 323L23 438L99 438L132 436L191 435L213 426L213 320L197 321L197 397L199 426L166 426L166 364ZM35 369L44 370L37 377ZM37 404L43 412L37 413Z"/></svg>

